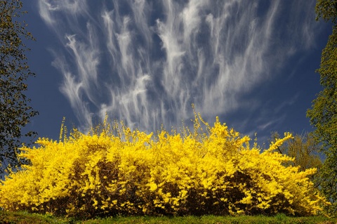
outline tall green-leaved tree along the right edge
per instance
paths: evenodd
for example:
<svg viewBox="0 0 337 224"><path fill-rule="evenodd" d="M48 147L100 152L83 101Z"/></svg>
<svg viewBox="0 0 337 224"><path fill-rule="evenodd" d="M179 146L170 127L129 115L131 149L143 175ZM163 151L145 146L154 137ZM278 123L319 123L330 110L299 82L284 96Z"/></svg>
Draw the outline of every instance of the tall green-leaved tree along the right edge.
<svg viewBox="0 0 337 224"><path fill-rule="evenodd" d="M317 72L324 89L312 101L307 112L315 126L317 141L324 146L326 160L322 167L322 192L337 209L337 0L317 0L316 20L332 22L333 30L322 51L321 65Z"/></svg>

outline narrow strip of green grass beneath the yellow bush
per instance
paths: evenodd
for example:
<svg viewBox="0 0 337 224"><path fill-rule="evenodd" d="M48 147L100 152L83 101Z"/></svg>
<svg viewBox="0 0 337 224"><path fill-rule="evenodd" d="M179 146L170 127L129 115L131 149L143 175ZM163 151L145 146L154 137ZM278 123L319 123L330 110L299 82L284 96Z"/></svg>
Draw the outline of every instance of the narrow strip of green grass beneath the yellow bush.
<svg viewBox="0 0 337 224"><path fill-rule="evenodd" d="M73 218L57 218L53 216L25 213L25 212L6 212L0 211L0 223L95 223L95 224L107 224L107 223L209 223L209 224L264 224L264 223L282 223L282 224L296 224L296 223L320 223L320 224L333 224L337 223L337 218L326 218L322 216L312 217L287 217L283 214L277 216L186 216L186 217L114 217L114 218L96 218L91 220L75 220Z"/></svg>

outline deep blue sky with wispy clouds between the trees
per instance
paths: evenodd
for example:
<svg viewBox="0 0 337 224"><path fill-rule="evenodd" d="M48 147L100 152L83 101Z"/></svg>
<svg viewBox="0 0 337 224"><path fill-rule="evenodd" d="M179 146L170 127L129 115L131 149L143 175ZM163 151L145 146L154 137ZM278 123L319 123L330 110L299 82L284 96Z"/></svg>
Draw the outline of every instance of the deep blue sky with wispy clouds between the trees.
<svg viewBox="0 0 337 224"><path fill-rule="evenodd" d="M25 1L27 129L58 139L62 117L85 131L124 120L141 131L209 123L267 141L311 131L306 110L321 90L320 55L331 26L315 0Z"/></svg>

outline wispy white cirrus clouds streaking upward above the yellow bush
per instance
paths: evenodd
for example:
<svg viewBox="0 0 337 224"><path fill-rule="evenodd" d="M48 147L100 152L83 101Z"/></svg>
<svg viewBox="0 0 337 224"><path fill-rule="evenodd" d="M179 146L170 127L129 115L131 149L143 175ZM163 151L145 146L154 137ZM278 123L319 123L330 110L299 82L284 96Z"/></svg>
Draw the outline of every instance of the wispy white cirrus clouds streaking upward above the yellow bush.
<svg viewBox="0 0 337 224"><path fill-rule="evenodd" d="M153 131L190 118L192 103L206 119L257 110L260 100L244 95L277 77L289 55L315 40L315 15L308 13L315 1L303 3L39 0L38 6L60 40L53 65L81 125L107 113ZM293 12L301 10L305 16Z"/></svg>

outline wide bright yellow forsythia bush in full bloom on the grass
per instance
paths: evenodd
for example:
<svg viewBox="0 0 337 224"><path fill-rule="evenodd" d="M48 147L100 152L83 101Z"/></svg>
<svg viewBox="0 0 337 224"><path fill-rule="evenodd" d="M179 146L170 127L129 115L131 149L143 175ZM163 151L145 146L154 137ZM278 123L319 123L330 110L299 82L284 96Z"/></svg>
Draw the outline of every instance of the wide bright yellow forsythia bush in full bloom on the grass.
<svg viewBox="0 0 337 224"><path fill-rule="evenodd" d="M204 127L202 129L201 127ZM30 165L0 185L0 207L67 216L286 214L308 216L326 201L308 176L285 166L275 152L260 152L218 118L209 126L195 114L194 131L131 131L107 121L60 141L41 138L22 147Z"/></svg>

